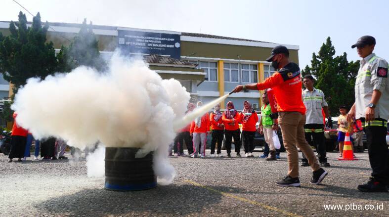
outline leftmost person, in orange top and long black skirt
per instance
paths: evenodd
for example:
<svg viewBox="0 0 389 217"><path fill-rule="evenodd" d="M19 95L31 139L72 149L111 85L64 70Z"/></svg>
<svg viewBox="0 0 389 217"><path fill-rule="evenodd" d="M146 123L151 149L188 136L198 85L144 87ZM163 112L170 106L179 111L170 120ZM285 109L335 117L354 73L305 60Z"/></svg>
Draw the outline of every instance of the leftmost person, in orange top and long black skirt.
<svg viewBox="0 0 389 217"><path fill-rule="evenodd" d="M16 123L16 116L17 113L14 112L12 115L14 122L11 132L11 150L9 151L8 162L12 162L13 158L18 158L18 161L22 161L27 143L28 131Z"/></svg>

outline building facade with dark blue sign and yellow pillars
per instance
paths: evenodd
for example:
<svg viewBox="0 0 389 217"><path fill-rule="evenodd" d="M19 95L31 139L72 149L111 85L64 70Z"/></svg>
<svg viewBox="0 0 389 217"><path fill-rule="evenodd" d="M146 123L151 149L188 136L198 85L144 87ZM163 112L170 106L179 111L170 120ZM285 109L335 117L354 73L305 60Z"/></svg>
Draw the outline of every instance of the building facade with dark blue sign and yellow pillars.
<svg viewBox="0 0 389 217"><path fill-rule="evenodd" d="M68 39L80 31L81 24L49 23L47 40L59 51ZM9 22L0 22L0 32L8 35ZM175 78L192 95L192 101L207 103L229 93L237 85L264 81L274 69L265 59L278 43L260 42L207 34L145 30L114 26L92 26L103 57L115 49L131 55L143 55L150 68L164 79ZM283 44L290 50L291 61L298 63L298 45ZM9 86L0 80L0 94ZM2 86L4 87L2 88ZM7 87L5 87L7 86ZM4 90L3 90L4 89ZM1 96L1 95L0 95ZM231 94L221 105L232 101L243 109L250 101L256 109L261 100L258 91Z"/></svg>

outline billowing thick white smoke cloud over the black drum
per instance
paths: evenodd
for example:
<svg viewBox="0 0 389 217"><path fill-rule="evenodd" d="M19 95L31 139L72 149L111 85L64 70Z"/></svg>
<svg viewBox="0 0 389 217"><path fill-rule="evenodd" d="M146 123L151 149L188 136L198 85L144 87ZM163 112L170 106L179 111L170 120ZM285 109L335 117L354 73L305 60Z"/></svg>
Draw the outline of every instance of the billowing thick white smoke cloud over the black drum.
<svg viewBox="0 0 389 217"><path fill-rule="evenodd" d="M61 137L80 149L97 141L140 147L138 157L154 151L155 173L166 183L175 175L167 160L173 122L183 117L189 99L178 81L163 80L142 60L115 53L106 73L81 66L43 81L29 79L12 109L36 138Z"/></svg>

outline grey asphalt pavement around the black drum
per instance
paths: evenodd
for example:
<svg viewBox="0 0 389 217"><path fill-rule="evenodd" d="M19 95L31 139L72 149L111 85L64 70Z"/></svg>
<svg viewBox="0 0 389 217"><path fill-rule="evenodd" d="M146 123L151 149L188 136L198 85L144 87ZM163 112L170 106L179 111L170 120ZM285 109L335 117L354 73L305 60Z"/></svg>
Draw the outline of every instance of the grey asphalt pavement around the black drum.
<svg viewBox="0 0 389 217"><path fill-rule="evenodd" d="M310 184L311 169L300 167L301 187L274 183L287 173L286 153L273 162L259 154L170 157L173 183L136 192L105 190L104 178L86 176L85 158L7 163L0 154L0 216L389 216L389 193L356 189L371 173L366 152L356 153L358 161L328 153L331 167L321 185Z"/></svg>

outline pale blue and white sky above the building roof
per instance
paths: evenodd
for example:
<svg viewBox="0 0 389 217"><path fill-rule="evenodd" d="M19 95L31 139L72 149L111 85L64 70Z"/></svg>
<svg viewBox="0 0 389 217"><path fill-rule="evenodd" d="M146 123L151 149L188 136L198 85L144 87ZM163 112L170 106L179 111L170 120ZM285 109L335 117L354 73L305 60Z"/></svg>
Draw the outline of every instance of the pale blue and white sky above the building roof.
<svg viewBox="0 0 389 217"><path fill-rule="evenodd" d="M375 53L389 59L389 1L386 0L17 0L49 22L214 34L300 45L301 67L310 64L328 36L348 60L358 60L351 44L376 38ZM16 20L22 10L1 0L0 20ZM32 17L28 15L28 20Z"/></svg>

